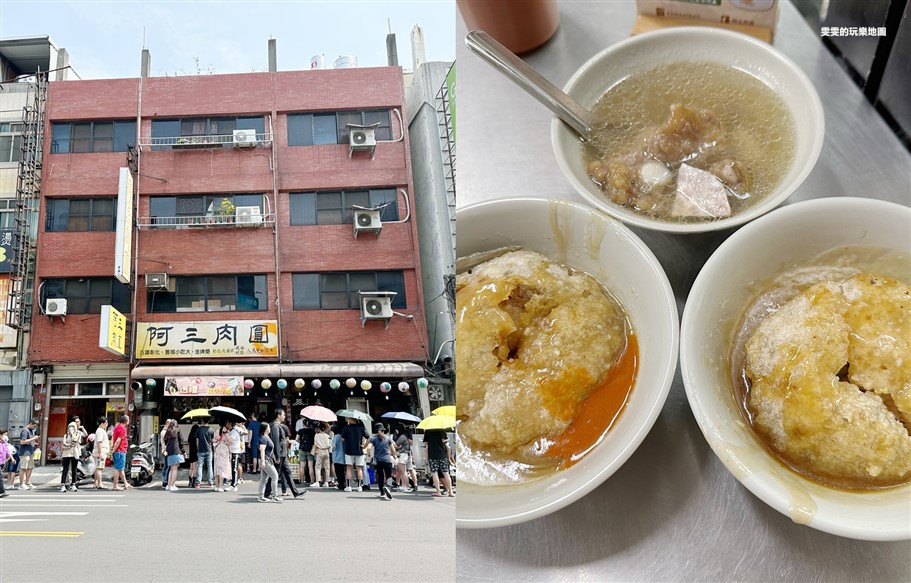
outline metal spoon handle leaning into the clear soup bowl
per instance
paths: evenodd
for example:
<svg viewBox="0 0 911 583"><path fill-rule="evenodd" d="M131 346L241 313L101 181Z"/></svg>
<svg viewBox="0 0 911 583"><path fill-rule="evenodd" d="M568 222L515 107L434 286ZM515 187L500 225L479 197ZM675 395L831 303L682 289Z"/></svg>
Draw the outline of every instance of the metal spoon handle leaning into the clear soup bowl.
<svg viewBox="0 0 911 583"><path fill-rule="evenodd" d="M542 77L525 61L483 30L469 32L465 37L465 44L471 52L481 57L488 65L547 106L586 141L590 141L589 138L594 128L603 125L603 122L592 112L573 101L559 87Z"/></svg>

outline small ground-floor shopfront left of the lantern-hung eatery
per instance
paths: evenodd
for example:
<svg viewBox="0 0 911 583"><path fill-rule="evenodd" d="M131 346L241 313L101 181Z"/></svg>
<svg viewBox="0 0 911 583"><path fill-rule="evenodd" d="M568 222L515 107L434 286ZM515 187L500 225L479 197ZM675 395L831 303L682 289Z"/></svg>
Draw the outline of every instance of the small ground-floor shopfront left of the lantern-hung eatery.
<svg viewBox="0 0 911 583"><path fill-rule="evenodd" d="M93 433L99 417L113 425L131 409L127 395L126 363L109 365L57 365L38 390L36 403L41 425L44 463L59 463L66 426L78 415L86 431Z"/></svg>

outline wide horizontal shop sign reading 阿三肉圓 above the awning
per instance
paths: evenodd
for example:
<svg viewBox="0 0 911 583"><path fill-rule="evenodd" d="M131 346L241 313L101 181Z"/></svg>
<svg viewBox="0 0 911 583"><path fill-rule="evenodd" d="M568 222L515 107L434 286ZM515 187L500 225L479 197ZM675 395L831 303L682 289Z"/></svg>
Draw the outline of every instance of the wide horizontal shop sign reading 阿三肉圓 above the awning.
<svg viewBox="0 0 911 583"><path fill-rule="evenodd" d="M136 358L278 356L277 320L139 322Z"/></svg>

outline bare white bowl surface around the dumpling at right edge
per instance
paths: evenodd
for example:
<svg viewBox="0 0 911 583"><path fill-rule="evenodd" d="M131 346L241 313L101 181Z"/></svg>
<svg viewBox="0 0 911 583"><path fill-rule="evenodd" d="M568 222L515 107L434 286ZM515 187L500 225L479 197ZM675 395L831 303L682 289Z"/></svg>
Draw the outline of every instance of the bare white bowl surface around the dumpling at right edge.
<svg viewBox="0 0 911 583"><path fill-rule="evenodd" d="M911 209L861 198L788 205L746 225L709 258L683 311L680 368L693 415L735 478L795 522L864 540L911 538L911 485L848 492L786 469L744 424L729 374L731 334L751 282L843 245L911 249Z"/></svg>

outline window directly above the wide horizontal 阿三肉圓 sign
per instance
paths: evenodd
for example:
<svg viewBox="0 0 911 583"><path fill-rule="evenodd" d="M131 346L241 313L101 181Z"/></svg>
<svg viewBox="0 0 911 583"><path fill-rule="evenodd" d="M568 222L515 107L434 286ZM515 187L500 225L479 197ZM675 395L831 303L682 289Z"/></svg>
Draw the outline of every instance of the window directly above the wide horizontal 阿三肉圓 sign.
<svg viewBox="0 0 911 583"><path fill-rule="evenodd" d="M175 277L175 291L149 290L148 312L235 312L269 307L265 275Z"/></svg>

